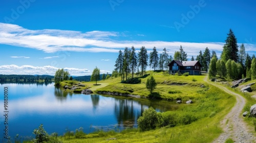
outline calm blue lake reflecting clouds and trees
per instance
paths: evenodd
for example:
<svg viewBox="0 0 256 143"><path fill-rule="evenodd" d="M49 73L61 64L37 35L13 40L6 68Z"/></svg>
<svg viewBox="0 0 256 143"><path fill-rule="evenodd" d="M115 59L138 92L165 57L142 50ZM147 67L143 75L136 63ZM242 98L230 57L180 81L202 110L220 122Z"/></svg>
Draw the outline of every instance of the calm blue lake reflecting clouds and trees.
<svg viewBox="0 0 256 143"><path fill-rule="evenodd" d="M105 97L66 93L54 83L0 85L0 133L4 130L4 87L8 87L9 136L33 136L40 124L51 134L62 135L67 130L82 127L84 132L95 129L123 129L137 127L137 119L145 108L157 111L174 110L177 105L165 101L135 100L132 98Z"/></svg>

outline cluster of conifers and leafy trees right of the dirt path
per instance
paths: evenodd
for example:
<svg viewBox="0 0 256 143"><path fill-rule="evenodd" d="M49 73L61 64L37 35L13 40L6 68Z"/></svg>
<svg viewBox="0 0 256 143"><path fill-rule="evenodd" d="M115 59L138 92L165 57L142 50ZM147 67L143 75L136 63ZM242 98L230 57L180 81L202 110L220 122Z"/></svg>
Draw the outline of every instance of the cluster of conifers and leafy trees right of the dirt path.
<svg viewBox="0 0 256 143"><path fill-rule="evenodd" d="M218 60L214 56L210 60L209 78L219 75L221 78L227 78L228 80L256 79L255 55L249 56L248 53L246 54L243 43L239 48L237 38L231 29L225 42L221 58Z"/></svg>

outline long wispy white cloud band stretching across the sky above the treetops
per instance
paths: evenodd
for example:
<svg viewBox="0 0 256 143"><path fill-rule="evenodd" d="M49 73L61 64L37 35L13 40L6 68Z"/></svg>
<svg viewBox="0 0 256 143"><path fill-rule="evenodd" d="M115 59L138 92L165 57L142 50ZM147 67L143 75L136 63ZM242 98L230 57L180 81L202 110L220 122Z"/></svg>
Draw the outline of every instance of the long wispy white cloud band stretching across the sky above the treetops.
<svg viewBox="0 0 256 143"><path fill-rule="evenodd" d="M117 53L119 50L123 50L124 47L133 45L137 50L141 46L145 46L148 51L156 46L159 52L166 47L166 50L173 54L175 51L179 51L179 47L182 45L188 56L196 56L200 50L204 51L205 47L216 51L218 54L223 50L224 45L223 42L116 40L116 37L120 36L123 36L123 34L108 31L82 33L67 30L29 30L17 25L0 23L1 44L27 47L46 53L59 51ZM245 47L246 52L255 52L256 44L245 43Z"/></svg>

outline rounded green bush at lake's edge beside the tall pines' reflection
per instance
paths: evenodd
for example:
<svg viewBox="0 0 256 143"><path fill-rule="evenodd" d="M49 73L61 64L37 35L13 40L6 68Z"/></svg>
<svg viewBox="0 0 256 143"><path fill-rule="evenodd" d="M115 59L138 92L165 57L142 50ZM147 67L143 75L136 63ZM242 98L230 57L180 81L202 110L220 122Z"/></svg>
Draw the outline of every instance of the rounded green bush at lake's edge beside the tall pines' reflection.
<svg viewBox="0 0 256 143"><path fill-rule="evenodd" d="M158 121L159 119L156 110L150 107L138 118L138 126L141 131L154 130L157 127Z"/></svg>

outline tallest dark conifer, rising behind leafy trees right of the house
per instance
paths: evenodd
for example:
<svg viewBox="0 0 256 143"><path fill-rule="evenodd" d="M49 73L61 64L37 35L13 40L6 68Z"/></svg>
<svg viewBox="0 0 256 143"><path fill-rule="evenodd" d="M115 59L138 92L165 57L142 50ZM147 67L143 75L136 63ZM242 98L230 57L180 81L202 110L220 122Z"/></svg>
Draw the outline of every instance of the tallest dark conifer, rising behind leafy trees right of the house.
<svg viewBox="0 0 256 143"><path fill-rule="evenodd" d="M225 40L225 45L223 46L223 51L221 53L221 59L226 62L228 59L238 61L238 45L237 38L234 36L233 31L230 29L227 34L227 39Z"/></svg>

